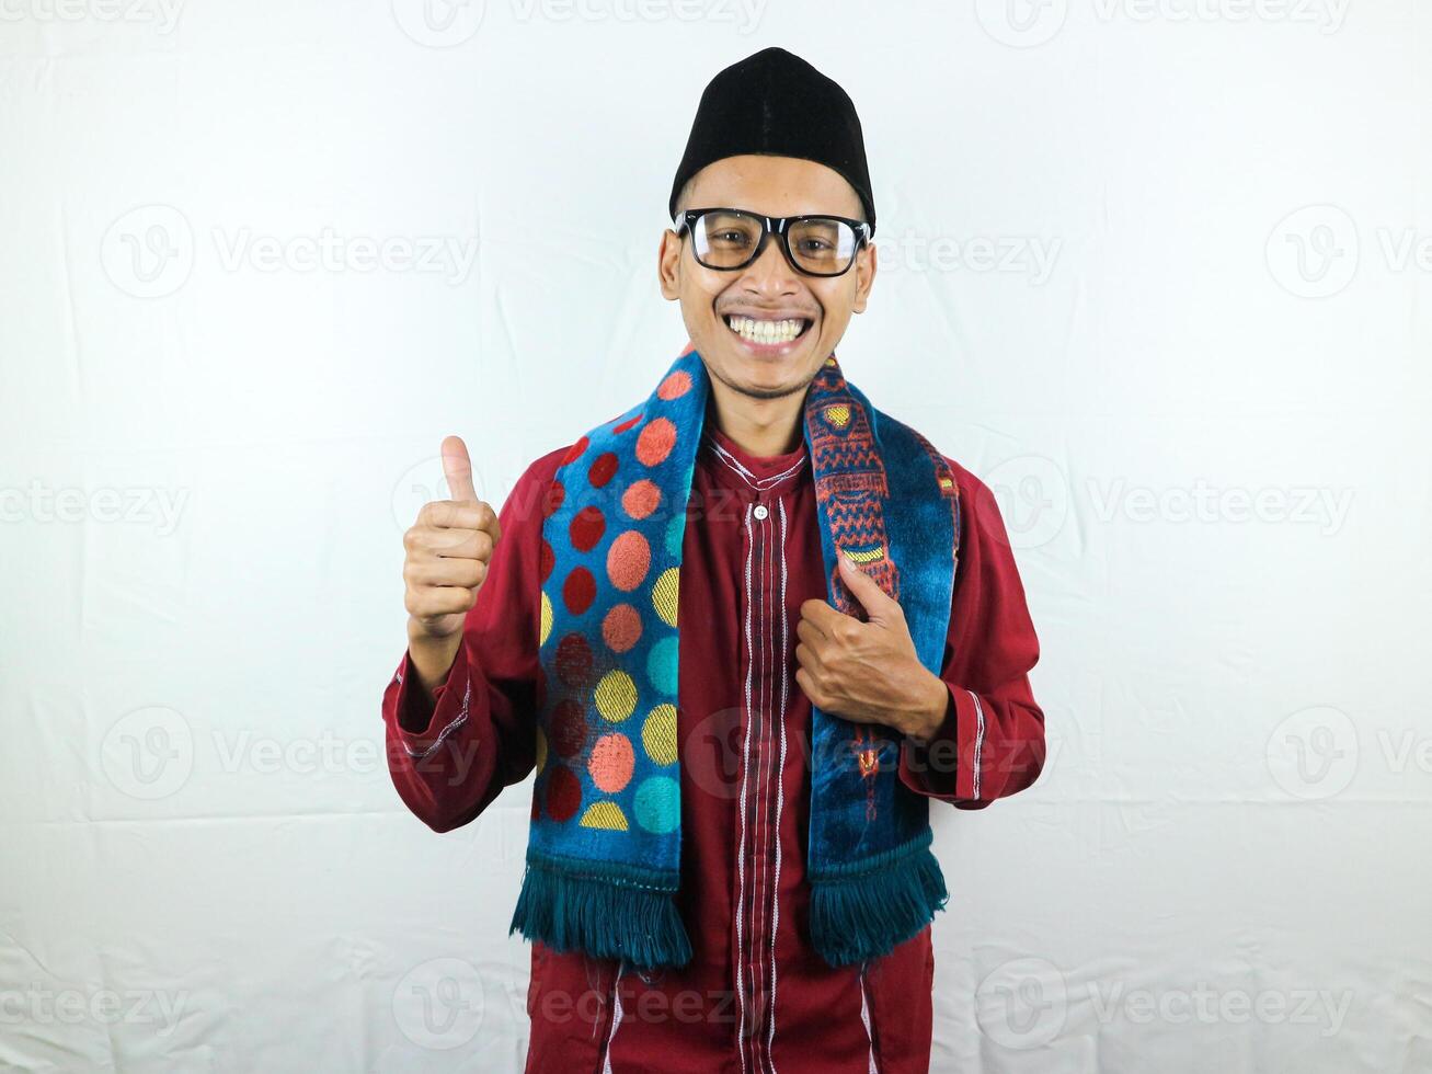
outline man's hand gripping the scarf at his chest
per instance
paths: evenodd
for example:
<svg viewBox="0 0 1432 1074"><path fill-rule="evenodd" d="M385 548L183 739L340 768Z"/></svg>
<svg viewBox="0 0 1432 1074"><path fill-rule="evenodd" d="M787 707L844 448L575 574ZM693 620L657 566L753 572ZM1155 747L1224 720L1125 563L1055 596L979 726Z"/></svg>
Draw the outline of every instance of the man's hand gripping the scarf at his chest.
<svg viewBox="0 0 1432 1074"><path fill-rule="evenodd" d="M919 662L899 603L843 554L836 558L869 621L823 600L803 601L796 624L796 683L823 712L928 740L945 717L948 687Z"/></svg>

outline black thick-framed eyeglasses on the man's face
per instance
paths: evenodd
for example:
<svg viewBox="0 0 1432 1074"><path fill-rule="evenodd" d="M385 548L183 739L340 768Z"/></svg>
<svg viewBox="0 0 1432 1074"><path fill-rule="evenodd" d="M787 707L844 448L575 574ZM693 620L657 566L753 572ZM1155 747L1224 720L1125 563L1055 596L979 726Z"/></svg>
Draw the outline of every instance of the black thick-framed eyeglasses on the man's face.
<svg viewBox="0 0 1432 1074"><path fill-rule="evenodd" d="M692 253L709 269L730 272L760 256L769 235L780 236L786 261L808 276L839 276L871 241L871 225L845 216L759 216L745 209L686 209L672 221L692 232Z"/></svg>

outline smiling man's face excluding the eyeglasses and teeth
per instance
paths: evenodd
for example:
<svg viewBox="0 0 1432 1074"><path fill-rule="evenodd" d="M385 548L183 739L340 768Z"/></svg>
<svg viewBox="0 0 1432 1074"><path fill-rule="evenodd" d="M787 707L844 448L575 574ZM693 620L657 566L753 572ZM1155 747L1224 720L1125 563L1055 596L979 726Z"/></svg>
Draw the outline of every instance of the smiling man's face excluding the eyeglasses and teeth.
<svg viewBox="0 0 1432 1074"><path fill-rule="evenodd" d="M729 156L707 165L677 208L715 206L762 216L865 218L859 196L839 172L790 156ZM776 235L750 265L730 272L697 263L690 243L689 232L662 235L662 295L680 299L686 332L712 377L755 398L805 391L845 335L851 314L865 311L875 279L874 246L861 249L842 276L808 276L790 266ZM732 316L798 319L803 328L790 342L753 342L730 326Z"/></svg>

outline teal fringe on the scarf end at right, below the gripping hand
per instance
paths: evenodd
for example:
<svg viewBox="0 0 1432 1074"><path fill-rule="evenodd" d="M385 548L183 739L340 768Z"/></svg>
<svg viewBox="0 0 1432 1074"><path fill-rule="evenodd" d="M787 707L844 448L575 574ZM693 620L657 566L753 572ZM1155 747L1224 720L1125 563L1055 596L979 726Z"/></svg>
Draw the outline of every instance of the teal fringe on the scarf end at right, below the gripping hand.
<svg viewBox="0 0 1432 1074"><path fill-rule="evenodd" d="M832 967L889 954L945 908L931 832L894 851L811 875L811 942Z"/></svg>

